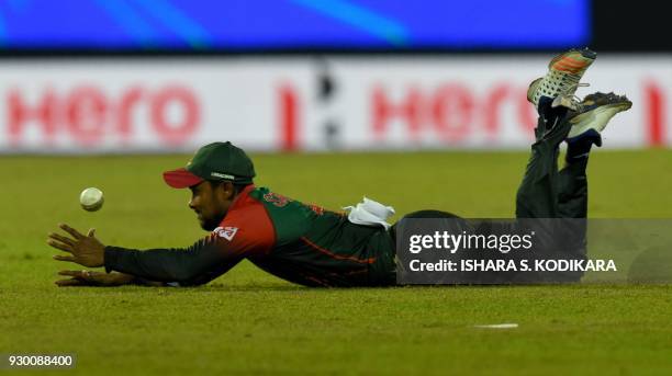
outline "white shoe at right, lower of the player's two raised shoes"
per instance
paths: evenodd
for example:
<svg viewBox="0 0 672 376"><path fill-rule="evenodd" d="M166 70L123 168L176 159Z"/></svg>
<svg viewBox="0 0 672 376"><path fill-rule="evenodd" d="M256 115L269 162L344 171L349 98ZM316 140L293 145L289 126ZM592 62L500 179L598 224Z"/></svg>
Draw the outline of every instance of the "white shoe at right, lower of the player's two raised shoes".
<svg viewBox="0 0 672 376"><path fill-rule="evenodd" d="M625 95L596 92L586 95L576 104L576 113L570 118L572 127L567 136L568 143L580 138L591 138L602 146L602 132L617 113L630 110L632 102Z"/></svg>

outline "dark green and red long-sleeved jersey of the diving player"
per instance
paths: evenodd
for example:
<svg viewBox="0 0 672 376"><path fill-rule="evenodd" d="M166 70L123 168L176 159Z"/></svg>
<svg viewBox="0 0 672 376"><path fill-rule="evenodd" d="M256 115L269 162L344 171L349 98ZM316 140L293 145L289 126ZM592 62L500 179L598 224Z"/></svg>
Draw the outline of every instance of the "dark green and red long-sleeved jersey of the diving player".
<svg viewBox="0 0 672 376"><path fill-rule="evenodd" d="M244 259L305 286L381 286L396 282L394 240L382 226L248 185L205 239L186 250L105 248L105 267L143 278L206 283Z"/></svg>

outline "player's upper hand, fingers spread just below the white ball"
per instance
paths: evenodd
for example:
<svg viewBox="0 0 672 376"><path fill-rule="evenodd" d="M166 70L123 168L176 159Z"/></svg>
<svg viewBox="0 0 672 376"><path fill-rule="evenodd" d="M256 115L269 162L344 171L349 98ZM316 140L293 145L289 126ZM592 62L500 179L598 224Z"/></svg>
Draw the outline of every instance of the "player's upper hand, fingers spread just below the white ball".
<svg viewBox="0 0 672 376"><path fill-rule="evenodd" d="M55 232L49 233L47 243L71 255L54 255L54 260L70 261L82 266L98 267L104 264L105 246L96 238L96 229L90 229L85 236L68 225L58 225L72 238Z"/></svg>

